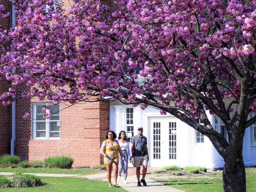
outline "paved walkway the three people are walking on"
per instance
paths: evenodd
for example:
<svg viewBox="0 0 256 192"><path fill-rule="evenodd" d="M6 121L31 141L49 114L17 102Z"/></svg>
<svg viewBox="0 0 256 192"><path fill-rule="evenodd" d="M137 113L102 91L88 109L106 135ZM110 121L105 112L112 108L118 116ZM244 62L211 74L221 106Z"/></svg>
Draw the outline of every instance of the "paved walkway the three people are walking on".
<svg viewBox="0 0 256 192"><path fill-rule="evenodd" d="M149 179L150 178L150 173L152 170L156 170L160 168L152 168L149 167L147 170L146 174L146 182L148 186L137 186L137 178L136 178L136 168L128 168L128 177L126 181L128 184L123 183L123 176L121 177L120 182L118 184L127 190L128 192L140 192L141 190L146 190L147 192L183 192L181 190L165 186L163 184L160 184L154 180ZM141 168L141 173L142 173L142 168ZM14 173L10 172L0 172L0 175L12 175ZM26 173L25 173L26 174ZM95 174L88 174L88 175L74 175L74 174L47 174L47 173L27 173L27 174L34 174L36 176L42 176L42 177L73 177L73 178L88 178L92 180L102 180L102 181L107 181L106 178L106 172L100 172L100 173L95 173ZM113 174L112 174L113 175ZM141 176L140 176L141 177ZM112 178L112 183L113 183L113 178Z"/></svg>

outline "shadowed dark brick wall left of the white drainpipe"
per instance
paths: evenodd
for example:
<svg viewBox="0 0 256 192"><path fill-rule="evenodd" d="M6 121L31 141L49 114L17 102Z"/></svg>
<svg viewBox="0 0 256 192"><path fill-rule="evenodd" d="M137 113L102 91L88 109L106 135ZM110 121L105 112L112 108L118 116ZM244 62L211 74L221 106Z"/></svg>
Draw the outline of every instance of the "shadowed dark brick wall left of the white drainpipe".
<svg viewBox="0 0 256 192"><path fill-rule="evenodd" d="M10 11L10 2L7 0L0 0L0 4L3 4L6 11ZM8 18L0 17L0 25L4 29L9 29L11 16ZM2 48L0 48L0 56L3 54ZM4 79L0 80L0 95L8 90L8 82ZM10 153L10 140L12 136L12 121L11 121L11 106L4 107L0 104L0 156Z"/></svg>

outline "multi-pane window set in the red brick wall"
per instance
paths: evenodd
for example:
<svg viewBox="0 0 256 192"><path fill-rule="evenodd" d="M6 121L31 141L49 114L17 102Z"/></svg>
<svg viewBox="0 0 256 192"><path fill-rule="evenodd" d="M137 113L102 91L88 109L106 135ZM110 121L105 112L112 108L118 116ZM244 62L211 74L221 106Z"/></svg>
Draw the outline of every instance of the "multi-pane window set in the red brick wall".
<svg viewBox="0 0 256 192"><path fill-rule="evenodd" d="M44 111L43 108L46 105L50 105L50 109ZM51 114L50 118L44 118L45 114ZM52 103L32 104L32 138L60 138L60 105Z"/></svg>

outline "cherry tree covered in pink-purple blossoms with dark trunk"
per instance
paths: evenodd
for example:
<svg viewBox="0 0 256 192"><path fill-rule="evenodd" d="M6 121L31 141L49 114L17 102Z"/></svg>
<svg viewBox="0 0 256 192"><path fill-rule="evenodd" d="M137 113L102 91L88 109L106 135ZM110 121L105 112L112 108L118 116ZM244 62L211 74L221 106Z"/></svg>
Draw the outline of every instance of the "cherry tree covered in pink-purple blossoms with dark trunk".
<svg viewBox="0 0 256 192"><path fill-rule="evenodd" d="M26 84L26 99L108 96L159 108L210 139L225 161L225 192L245 192L242 143L256 122L256 1L118 0L114 12L100 0L70 2L64 10L53 0L16 0L16 27L0 30L0 44L10 44L2 46L0 76L11 82L2 104ZM6 16L1 5L0 12Z"/></svg>

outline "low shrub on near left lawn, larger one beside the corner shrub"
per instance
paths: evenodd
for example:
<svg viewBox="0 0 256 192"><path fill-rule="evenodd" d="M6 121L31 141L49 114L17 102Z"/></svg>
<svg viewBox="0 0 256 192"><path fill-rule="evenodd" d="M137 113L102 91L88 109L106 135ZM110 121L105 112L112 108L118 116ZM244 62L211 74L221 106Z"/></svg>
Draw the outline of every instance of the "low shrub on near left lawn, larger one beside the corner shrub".
<svg viewBox="0 0 256 192"><path fill-rule="evenodd" d="M10 180L10 187L34 187L43 185L39 177L32 174L15 173Z"/></svg>

